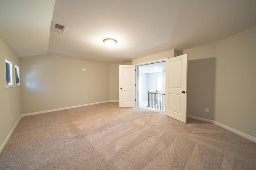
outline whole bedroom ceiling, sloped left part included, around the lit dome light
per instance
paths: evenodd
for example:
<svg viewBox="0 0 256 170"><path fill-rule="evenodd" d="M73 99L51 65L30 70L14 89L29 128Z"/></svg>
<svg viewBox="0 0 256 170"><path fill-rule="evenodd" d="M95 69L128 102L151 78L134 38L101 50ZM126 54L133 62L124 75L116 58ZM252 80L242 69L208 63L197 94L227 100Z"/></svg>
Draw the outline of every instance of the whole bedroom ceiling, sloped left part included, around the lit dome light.
<svg viewBox="0 0 256 170"><path fill-rule="evenodd" d="M122 63L218 42L256 25L255 9L256 0L0 0L0 38L20 58ZM106 47L105 38L118 43Z"/></svg>

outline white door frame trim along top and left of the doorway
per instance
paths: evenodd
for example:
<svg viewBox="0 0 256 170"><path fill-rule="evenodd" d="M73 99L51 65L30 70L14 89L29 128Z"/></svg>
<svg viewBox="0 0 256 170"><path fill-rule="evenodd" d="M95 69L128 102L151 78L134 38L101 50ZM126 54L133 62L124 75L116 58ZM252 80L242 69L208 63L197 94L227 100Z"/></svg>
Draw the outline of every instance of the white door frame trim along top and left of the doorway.
<svg viewBox="0 0 256 170"><path fill-rule="evenodd" d="M147 62L144 62L144 63L138 63L138 64L134 64L135 66L135 69L136 69L136 75L135 75L135 83L138 84L139 82L139 73L140 73L140 70L138 70L138 66L142 66L142 65L146 65L146 64L153 64L153 63L159 63L159 62L162 62L162 61L166 61L167 59L169 58L164 58L164 59L159 59L159 60L153 60L153 61L147 61ZM139 86L136 85L136 90L135 90L135 98L136 98L136 107L139 106Z"/></svg>

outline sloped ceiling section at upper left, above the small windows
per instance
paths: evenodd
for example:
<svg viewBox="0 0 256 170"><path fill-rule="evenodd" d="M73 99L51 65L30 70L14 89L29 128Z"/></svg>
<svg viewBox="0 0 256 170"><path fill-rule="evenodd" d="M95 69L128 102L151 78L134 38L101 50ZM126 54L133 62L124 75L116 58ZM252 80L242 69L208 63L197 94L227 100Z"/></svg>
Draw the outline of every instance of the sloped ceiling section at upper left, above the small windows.
<svg viewBox="0 0 256 170"><path fill-rule="evenodd" d="M0 0L0 38L18 55L46 54L55 0Z"/></svg>

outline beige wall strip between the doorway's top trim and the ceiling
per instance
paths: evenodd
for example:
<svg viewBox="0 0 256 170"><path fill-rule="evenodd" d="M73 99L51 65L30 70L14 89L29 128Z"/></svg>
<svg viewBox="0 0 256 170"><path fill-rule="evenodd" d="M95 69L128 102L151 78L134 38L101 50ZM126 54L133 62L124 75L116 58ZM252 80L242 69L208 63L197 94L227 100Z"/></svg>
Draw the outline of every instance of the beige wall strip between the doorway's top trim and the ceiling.
<svg viewBox="0 0 256 170"><path fill-rule="evenodd" d="M162 53L148 55L146 57L140 57L138 59L133 59L132 65L165 59L165 58L172 58L172 57L175 57L176 53L177 52L175 50L169 50L169 51L164 51Z"/></svg>

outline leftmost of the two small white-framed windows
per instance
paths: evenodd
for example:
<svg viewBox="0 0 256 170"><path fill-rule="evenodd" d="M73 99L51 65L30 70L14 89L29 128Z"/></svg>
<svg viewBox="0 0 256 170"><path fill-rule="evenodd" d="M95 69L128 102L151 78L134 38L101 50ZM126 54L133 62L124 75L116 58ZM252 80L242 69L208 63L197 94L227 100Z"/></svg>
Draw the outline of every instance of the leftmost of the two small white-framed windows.
<svg viewBox="0 0 256 170"><path fill-rule="evenodd" d="M5 64L4 64L4 71L5 71L5 88L10 88L14 86L13 83L13 73L12 73L12 65L13 61L9 59L7 56L4 56Z"/></svg>

